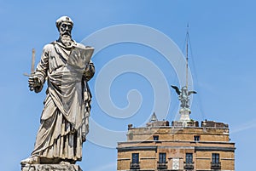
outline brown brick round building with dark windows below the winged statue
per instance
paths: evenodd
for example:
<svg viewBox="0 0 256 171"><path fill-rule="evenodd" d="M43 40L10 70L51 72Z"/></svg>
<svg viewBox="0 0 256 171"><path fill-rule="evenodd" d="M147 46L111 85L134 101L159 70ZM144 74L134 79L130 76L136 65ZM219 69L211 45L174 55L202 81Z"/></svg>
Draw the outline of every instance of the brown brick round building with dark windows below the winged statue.
<svg viewBox="0 0 256 171"><path fill-rule="evenodd" d="M127 140L118 143L119 171L128 170L235 170L235 143L229 125L203 121L130 124Z"/></svg>

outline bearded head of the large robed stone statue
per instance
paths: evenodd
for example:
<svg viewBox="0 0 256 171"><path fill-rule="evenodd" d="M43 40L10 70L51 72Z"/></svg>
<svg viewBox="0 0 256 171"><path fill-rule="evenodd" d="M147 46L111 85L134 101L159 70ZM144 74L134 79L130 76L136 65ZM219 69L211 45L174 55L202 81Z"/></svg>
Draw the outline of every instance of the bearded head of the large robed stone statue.
<svg viewBox="0 0 256 171"><path fill-rule="evenodd" d="M58 31L60 31L60 35L68 35L71 37L71 31L73 29L73 20L68 16L62 16L58 20L56 20L56 27Z"/></svg>

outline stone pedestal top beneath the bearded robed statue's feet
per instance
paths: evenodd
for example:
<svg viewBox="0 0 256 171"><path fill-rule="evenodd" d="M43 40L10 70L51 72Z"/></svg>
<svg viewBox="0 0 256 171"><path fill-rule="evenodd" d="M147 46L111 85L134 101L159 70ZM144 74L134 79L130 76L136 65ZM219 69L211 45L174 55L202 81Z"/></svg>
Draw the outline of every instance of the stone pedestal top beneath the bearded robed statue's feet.
<svg viewBox="0 0 256 171"><path fill-rule="evenodd" d="M76 164L26 164L21 171L83 171Z"/></svg>

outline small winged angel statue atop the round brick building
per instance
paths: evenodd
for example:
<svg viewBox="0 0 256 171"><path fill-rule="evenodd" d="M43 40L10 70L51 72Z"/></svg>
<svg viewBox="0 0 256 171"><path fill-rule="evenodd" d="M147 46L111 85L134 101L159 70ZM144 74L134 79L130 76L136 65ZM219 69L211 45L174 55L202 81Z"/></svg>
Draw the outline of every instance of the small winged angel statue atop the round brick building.
<svg viewBox="0 0 256 171"><path fill-rule="evenodd" d="M178 100L180 100L181 104L180 107L182 109L189 109L189 95L196 94L195 91L188 91L187 86L183 86L183 88L179 89L177 86L171 86L175 89L176 93L178 94Z"/></svg>

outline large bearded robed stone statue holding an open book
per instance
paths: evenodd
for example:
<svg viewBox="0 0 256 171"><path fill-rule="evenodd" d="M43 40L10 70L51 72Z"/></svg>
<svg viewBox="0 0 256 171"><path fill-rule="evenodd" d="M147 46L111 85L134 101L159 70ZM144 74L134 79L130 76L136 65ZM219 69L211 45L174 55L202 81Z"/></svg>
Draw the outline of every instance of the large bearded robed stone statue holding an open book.
<svg viewBox="0 0 256 171"><path fill-rule="evenodd" d="M36 71L29 77L35 93L47 81L41 125L26 164L74 164L82 159L82 144L89 131L91 94L88 81L95 73L90 58L94 48L76 43L71 36L73 20L56 20L58 40L44 46Z"/></svg>

